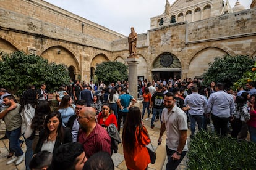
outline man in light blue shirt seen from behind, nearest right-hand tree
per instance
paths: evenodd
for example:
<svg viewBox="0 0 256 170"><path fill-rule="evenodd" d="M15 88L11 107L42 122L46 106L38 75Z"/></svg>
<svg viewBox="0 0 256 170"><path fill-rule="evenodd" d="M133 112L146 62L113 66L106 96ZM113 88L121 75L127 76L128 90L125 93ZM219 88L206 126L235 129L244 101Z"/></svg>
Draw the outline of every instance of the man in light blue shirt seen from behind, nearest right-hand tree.
<svg viewBox="0 0 256 170"><path fill-rule="evenodd" d="M227 136L228 121L233 120L234 99L231 94L223 91L223 84L216 84L215 93L212 93L207 103L207 116L213 121L217 134Z"/></svg>

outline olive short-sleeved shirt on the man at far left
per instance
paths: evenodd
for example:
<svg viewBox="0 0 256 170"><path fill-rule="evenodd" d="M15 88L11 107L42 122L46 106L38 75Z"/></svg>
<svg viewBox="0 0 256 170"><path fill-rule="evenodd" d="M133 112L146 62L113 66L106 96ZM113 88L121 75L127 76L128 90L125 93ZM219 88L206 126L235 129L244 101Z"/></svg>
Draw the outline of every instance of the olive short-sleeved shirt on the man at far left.
<svg viewBox="0 0 256 170"><path fill-rule="evenodd" d="M6 123L6 130L7 131L13 131L22 125L22 117L20 116L19 109L20 104L16 103L17 108L9 111L4 116L4 122ZM6 110L9 106L4 107L4 110ZM1 114L1 113L0 113Z"/></svg>

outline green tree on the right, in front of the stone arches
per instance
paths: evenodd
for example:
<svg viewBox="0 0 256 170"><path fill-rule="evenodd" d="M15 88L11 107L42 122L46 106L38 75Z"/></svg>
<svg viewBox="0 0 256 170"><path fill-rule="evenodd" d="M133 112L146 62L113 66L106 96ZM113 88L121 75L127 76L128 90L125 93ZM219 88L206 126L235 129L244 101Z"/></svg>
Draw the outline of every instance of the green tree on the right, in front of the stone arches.
<svg viewBox="0 0 256 170"><path fill-rule="evenodd" d="M254 60L247 55L216 57L213 63L209 63L209 69L203 73L203 84L208 86L211 81L215 81L230 87L242 78L242 75L249 71L252 65L254 65Z"/></svg>

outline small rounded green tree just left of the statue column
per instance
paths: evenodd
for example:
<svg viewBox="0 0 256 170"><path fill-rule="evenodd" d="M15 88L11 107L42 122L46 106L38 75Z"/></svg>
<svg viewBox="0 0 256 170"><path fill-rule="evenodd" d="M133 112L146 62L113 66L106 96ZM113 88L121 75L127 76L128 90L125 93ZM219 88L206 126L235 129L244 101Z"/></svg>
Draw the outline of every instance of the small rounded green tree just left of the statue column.
<svg viewBox="0 0 256 170"><path fill-rule="evenodd" d="M128 79L128 67L121 62L103 62L96 65L95 75L105 84Z"/></svg>

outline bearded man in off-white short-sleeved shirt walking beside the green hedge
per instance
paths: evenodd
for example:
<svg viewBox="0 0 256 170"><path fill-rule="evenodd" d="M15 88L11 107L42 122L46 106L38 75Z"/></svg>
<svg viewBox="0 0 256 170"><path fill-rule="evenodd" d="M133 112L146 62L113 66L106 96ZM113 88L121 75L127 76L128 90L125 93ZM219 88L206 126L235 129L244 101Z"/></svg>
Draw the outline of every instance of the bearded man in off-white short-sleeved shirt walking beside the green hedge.
<svg viewBox="0 0 256 170"><path fill-rule="evenodd" d="M168 92L164 95L164 107L158 144L161 144L166 130L166 170L169 170L176 169L187 152L187 115L176 106L173 93Z"/></svg>

